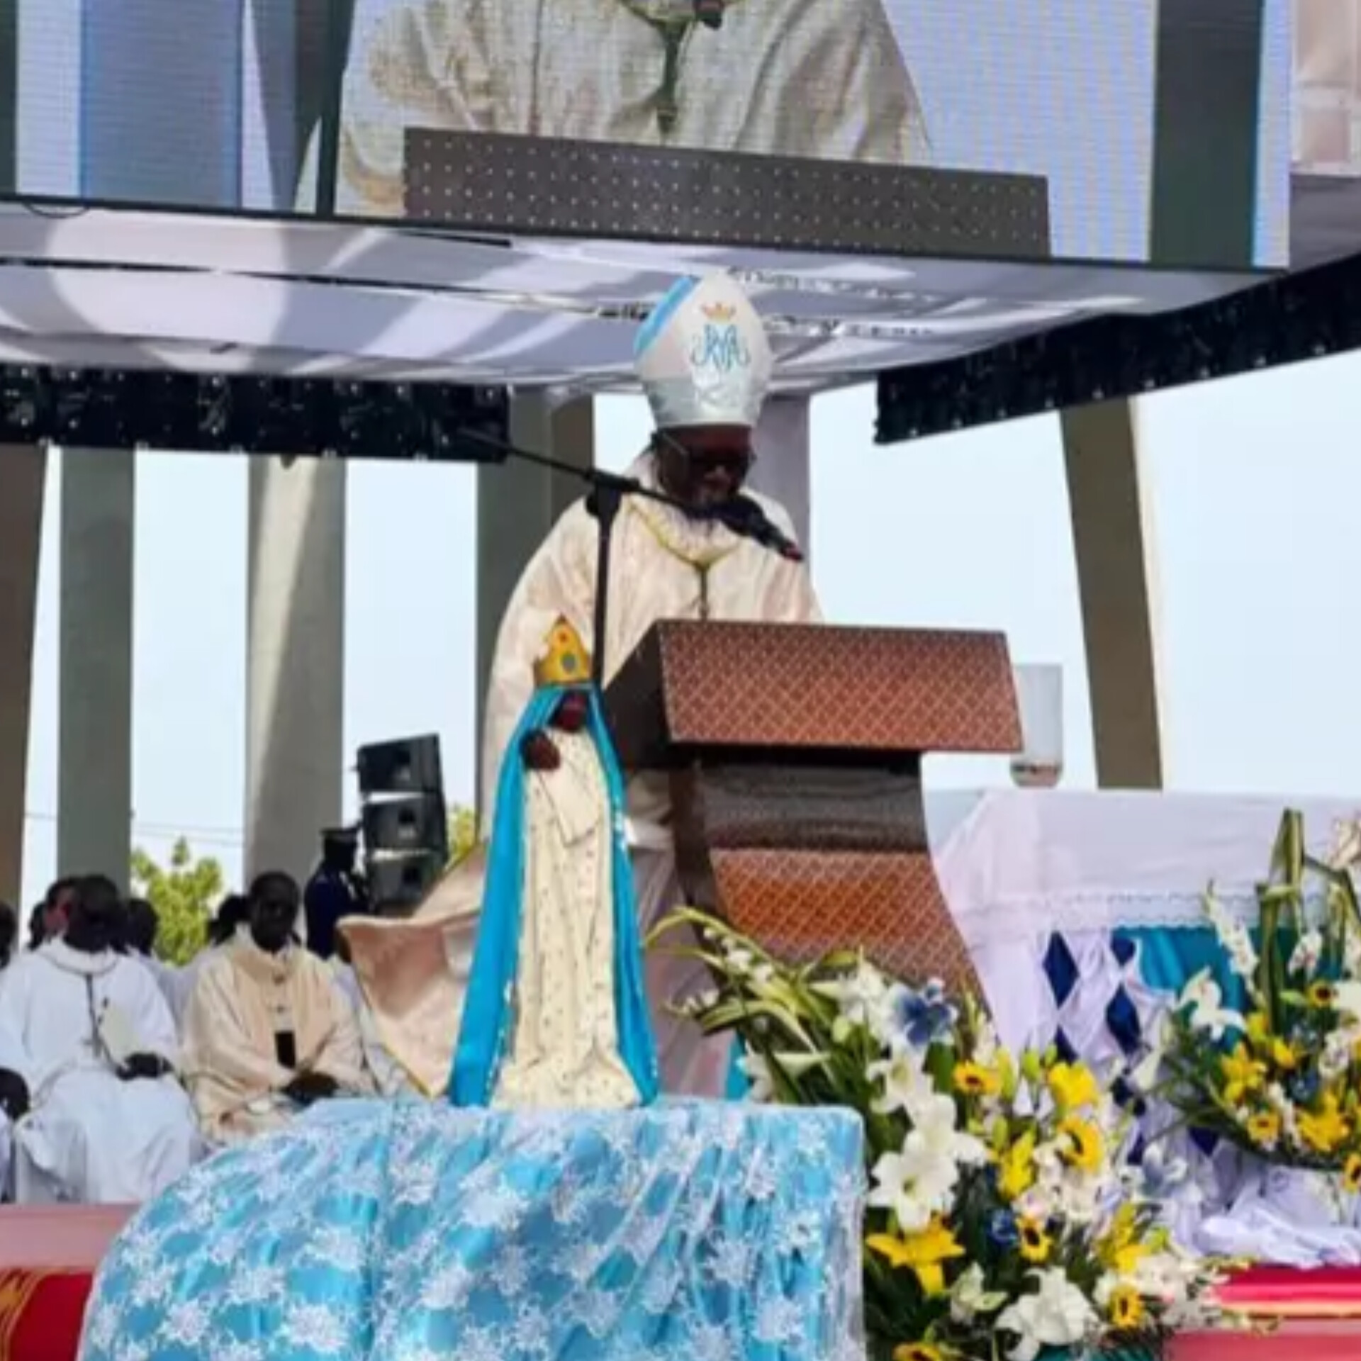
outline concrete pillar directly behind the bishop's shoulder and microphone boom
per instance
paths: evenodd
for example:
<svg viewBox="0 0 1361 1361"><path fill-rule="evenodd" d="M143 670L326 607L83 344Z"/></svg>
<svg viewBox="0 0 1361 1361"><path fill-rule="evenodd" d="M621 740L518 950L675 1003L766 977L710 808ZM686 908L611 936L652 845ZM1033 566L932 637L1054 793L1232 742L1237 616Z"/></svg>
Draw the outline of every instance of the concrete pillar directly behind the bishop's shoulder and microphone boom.
<svg viewBox="0 0 1361 1361"><path fill-rule="evenodd" d="M510 442L580 468L595 464L595 407L589 397L524 392L510 403ZM478 788L482 715L501 617L525 563L587 487L565 474L514 460L478 470Z"/></svg>

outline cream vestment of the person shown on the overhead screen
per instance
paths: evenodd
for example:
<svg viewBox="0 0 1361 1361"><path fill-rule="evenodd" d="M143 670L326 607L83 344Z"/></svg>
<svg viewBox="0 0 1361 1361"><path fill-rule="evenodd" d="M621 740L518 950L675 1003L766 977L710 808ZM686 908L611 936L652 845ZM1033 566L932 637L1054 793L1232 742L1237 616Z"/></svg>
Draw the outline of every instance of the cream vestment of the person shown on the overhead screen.
<svg viewBox="0 0 1361 1361"><path fill-rule="evenodd" d="M336 208L403 216L407 128L927 159L921 108L882 0L734 0L719 30L675 29L693 16L676 0L359 0ZM313 139L304 210L317 152Z"/></svg>

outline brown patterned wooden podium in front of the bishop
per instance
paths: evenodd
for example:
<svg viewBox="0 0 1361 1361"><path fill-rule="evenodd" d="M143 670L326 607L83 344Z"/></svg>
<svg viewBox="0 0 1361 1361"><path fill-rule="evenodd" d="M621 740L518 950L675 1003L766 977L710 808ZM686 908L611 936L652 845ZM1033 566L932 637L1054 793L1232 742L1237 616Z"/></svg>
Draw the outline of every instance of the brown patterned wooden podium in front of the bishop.
<svg viewBox="0 0 1361 1361"><path fill-rule="evenodd" d="M977 994L921 757L1019 750L1002 634L659 623L606 706L625 769L670 772L689 902L791 962L860 947Z"/></svg>

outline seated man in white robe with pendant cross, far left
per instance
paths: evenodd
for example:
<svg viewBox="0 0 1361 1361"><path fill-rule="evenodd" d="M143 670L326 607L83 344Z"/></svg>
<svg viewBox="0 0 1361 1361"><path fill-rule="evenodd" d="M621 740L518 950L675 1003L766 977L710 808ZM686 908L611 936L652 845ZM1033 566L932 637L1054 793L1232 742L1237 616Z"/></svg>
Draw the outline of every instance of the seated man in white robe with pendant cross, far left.
<svg viewBox="0 0 1361 1361"><path fill-rule="evenodd" d="M65 935L0 980L0 1104L20 1199L137 1203L199 1155L170 1009L152 974L113 949L122 917L109 879L79 879Z"/></svg>

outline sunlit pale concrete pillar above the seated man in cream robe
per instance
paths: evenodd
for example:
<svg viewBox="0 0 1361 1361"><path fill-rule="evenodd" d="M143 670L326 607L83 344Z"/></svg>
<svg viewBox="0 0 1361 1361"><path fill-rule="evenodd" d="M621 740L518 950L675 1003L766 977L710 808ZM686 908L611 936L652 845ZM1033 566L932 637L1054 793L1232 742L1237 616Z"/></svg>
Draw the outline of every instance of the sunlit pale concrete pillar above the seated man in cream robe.
<svg viewBox="0 0 1361 1361"><path fill-rule="evenodd" d="M250 461L246 583L246 875L299 879L340 821L346 465Z"/></svg>

